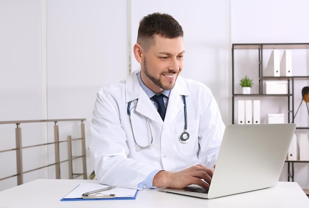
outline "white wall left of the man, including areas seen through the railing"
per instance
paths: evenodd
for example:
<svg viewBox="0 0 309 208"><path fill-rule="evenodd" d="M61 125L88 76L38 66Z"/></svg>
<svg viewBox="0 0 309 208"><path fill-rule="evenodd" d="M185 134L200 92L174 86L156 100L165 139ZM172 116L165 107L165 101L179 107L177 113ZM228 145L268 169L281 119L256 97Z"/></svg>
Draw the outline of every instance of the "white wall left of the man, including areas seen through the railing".
<svg viewBox="0 0 309 208"><path fill-rule="evenodd" d="M88 146L96 92L128 75L126 19L126 0L0 0L0 121L86 118ZM79 124L59 123L60 139L80 137ZM15 127L0 125L0 150L14 148ZM24 145L53 140L53 124L21 128ZM24 171L53 163L53 151L48 147L46 158L45 149L25 150ZM15 152L0 161L7 167L0 177L16 173ZM89 175L88 151L87 169ZM54 167L24 177L54 178ZM0 181L0 189L16 184Z"/></svg>

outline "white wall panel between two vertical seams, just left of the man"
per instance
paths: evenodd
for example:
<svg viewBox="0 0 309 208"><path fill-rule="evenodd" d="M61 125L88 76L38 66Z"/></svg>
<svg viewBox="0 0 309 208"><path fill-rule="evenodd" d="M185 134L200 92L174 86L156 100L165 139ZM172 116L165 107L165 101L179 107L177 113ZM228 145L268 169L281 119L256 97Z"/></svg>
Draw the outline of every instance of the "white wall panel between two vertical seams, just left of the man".
<svg viewBox="0 0 309 208"><path fill-rule="evenodd" d="M96 92L128 75L126 19L126 0L47 2L47 116L86 118L86 146ZM60 127L63 137L73 129ZM90 174L89 151L87 165Z"/></svg>

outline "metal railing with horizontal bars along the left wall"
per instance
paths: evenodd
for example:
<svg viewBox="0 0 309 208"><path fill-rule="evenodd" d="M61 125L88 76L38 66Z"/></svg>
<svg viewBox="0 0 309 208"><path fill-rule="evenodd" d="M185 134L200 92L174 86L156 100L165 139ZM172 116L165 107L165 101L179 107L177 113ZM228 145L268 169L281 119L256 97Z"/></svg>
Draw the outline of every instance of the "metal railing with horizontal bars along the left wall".
<svg viewBox="0 0 309 208"><path fill-rule="evenodd" d="M15 139L16 139L16 148L13 149L5 149L1 150L0 153L8 152L8 151L16 151L16 174L9 175L3 178L0 178L0 180L4 180L7 178L15 177L17 176L17 185L23 184L23 174L33 172L39 169L47 168L49 166L55 166L55 172L56 172L56 179L60 179L60 163L68 162L69 163L69 178L73 179L78 176L83 175L83 179L87 179L87 170L86 170L86 145L85 145L85 125L83 121L86 119L79 118L79 119L48 119L48 120L22 120L22 121L0 121L0 124L16 124L15 129ZM77 139L72 139L71 136L68 136L66 140L59 141L59 126L58 122L63 121L81 121L80 124L80 133L81 137ZM21 124L22 123L41 123L41 122L54 122L54 141L53 142L47 142L42 144L36 144L36 145L30 145L30 146L23 146L22 145L22 133L21 133ZM81 155L79 156L72 156L72 141L74 140L80 140L81 141ZM68 143L68 160L60 161L60 149L59 144L62 142ZM31 148L31 147L38 147L43 145L49 145L54 144L55 149L55 163L48 164L45 166L41 166L36 169L32 169L29 171L23 171L23 149L25 148ZM83 173L73 173L73 160L77 158L82 158L82 169Z"/></svg>

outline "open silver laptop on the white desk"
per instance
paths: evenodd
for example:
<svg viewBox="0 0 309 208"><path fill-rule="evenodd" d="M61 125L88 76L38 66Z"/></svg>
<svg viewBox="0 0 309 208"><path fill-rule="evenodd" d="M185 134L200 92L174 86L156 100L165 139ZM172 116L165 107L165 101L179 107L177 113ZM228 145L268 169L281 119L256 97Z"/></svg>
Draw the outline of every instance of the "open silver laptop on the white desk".
<svg viewBox="0 0 309 208"><path fill-rule="evenodd" d="M228 125L208 190L190 185L159 191L212 199L275 186L296 124Z"/></svg>

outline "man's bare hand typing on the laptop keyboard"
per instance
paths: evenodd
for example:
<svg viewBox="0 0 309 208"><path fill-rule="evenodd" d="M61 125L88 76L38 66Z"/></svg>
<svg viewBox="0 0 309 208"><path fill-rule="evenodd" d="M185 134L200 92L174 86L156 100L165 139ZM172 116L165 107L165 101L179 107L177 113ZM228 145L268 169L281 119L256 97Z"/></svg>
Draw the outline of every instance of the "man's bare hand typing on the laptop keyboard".
<svg viewBox="0 0 309 208"><path fill-rule="evenodd" d="M191 184L197 184L208 189L213 173L212 169L201 164L176 173L160 171L154 175L153 186L182 189Z"/></svg>

